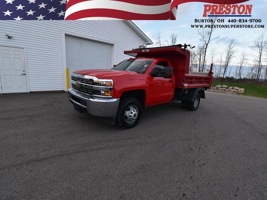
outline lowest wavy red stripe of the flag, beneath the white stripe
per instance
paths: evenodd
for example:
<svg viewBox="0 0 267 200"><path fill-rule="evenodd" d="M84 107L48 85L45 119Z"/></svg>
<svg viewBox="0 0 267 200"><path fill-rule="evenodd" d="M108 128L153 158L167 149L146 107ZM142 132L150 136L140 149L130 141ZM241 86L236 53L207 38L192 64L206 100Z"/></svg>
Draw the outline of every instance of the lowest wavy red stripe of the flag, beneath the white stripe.
<svg viewBox="0 0 267 200"><path fill-rule="evenodd" d="M167 20L169 11L160 14L138 14L114 9L87 9L74 12L66 17L65 20L77 20L86 17L111 17L124 20Z"/></svg>

